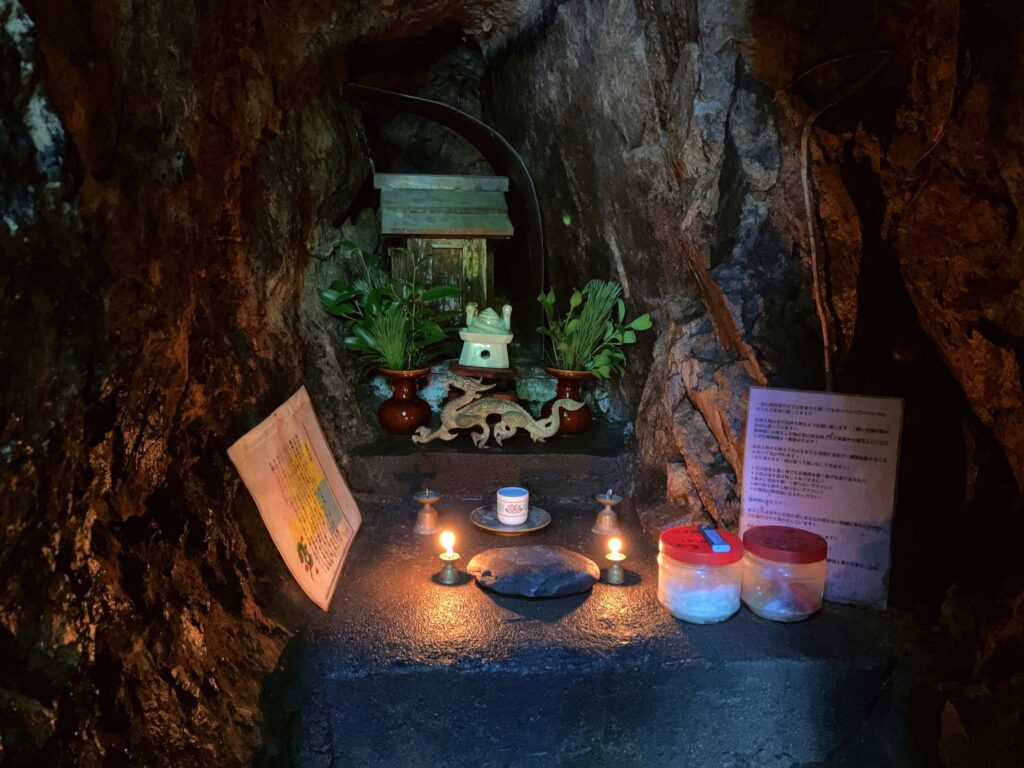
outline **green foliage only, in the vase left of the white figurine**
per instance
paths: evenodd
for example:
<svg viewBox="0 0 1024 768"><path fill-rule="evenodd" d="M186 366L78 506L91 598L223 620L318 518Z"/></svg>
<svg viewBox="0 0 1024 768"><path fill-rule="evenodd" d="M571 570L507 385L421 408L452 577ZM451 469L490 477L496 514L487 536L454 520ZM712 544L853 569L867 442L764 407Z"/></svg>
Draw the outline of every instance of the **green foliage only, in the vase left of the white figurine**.
<svg viewBox="0 0 1024 768"><path fill-rule="evenodd" d="M380 268L378 255L350 242L342 247L358 255L362 274L350 284L335 281L319 297L324 308L341 322L341 345L360 367L411 371L450 351L447 337L459 313L442 310L435 302L459 296L457 286L420 285L420 260L413 262L412 280L392 279Z"/></svg>

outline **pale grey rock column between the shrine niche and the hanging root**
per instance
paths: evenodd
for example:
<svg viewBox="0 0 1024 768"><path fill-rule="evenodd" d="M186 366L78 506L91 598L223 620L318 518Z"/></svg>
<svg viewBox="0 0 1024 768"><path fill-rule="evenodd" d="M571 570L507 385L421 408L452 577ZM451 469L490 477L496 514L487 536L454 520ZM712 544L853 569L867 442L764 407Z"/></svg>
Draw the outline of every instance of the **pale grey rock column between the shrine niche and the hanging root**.
<svg viewBox="0 0 1024 768"><path fill-rule="evenodd" d="M610 278L655 317L623 382L641 486L679 504L648 505L654 528L700 512L734 524L748 388L820 383L750 35L742 3L565 3L489 69L489 115L542 180L556 291Z"/></svg>

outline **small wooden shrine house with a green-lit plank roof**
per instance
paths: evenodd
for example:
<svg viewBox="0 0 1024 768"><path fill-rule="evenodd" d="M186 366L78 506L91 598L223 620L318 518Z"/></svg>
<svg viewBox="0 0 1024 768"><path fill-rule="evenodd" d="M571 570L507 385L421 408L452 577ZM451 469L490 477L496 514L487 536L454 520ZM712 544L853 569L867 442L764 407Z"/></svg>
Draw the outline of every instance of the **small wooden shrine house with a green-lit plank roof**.
<svg viewBox="0 0 1024 768"><path fill-rule="evenodd" d="M494 299L494 254L488 238L511 238L512 221L505 195L505 176L439 176L377 173L374 186L381 193L381 233L406 237L414 256L394 254L391 271L411 276L413 259L426 273L426 285L460 286L462 295L452 309L470 302L489 306Z"/></svg>

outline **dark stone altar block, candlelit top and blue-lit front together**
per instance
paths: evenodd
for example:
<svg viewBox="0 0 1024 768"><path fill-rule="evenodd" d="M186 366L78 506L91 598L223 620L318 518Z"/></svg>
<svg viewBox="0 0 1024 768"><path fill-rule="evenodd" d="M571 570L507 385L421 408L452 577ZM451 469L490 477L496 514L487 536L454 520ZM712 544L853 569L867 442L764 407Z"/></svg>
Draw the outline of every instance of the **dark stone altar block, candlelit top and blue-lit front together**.
<svg viewBox="0 0 1024 768"><path fill-rule="evenodd" d="M912 625L828 605L782 625L745 608L694 626L657 602L655 552L624 515L627 583L566 598L437 583L412 505L368 505L325 614L264 690L264 766L925 766L940 701ZM605 564L596 504L524 538L441 505L460 567L557 544ZM296 588L297 590L297 588ZM297 596L295 599L300 599Z"/></svg>

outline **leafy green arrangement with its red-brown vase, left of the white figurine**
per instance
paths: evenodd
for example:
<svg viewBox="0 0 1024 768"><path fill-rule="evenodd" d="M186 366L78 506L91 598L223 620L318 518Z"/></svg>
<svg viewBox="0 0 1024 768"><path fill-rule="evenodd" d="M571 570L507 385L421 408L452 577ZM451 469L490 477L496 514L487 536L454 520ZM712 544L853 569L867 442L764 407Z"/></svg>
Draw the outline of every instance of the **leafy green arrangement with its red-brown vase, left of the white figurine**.
<svg viewBox="0 0 1024 768"><path fill-rule="evenodd" d="M342 246L358 255L362 273L351 283L332 283L319 292L321 302L341 322L342 348L360 369L376 368L391 385L391 397L377 411L381 426L391 434L413 434L430 421L430 407L416 393L417 384L449 351L447 337L458 317L437 302L459 296L459 288L420 285L418 260L410 280L391 278L376 254L354 243Z"/></svg>

